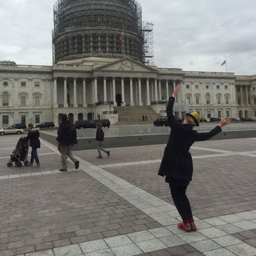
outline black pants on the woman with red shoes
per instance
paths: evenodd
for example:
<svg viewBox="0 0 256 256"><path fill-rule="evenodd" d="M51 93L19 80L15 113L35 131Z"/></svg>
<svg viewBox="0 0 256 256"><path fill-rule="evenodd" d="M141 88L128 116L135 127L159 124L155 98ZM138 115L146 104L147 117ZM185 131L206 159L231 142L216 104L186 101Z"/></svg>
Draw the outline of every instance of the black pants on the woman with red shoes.
<svg viewBox="0 0 256 256"><path fill-rule="evenodd" d="M181 215L182 220L193 218L191 205L186 196L188 186L175 186L169 183L171 188L171 196L174 199L174 204Z"/></svg>

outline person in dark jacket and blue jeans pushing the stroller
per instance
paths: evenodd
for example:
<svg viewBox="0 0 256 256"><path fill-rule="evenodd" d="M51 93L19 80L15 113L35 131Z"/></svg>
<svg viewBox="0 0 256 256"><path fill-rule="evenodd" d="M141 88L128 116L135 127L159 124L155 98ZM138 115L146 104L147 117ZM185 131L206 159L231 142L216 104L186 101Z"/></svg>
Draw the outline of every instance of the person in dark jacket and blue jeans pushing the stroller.
<svg viewBox="0 0 256 256"><path fill-rule="evenodd" d="M31 161L28 166L33 166L33 161L36 160L36 166L40 166L38 159L37 149L40 149L41 143L39 140L40 133L39 128L34 128L33 124L28 124L28 136L26 139L29 141L29 146L31 146Z"/></svg>

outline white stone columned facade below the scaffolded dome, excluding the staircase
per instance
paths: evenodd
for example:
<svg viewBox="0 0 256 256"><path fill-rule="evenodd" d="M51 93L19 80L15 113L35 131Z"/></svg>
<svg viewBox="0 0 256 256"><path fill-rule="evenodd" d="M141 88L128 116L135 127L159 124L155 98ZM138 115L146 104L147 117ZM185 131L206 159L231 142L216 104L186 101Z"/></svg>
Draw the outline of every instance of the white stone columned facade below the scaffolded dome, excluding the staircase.
<svg viewBox="0 0 256 256"><path fill-rule="evenodd" d="M0 127L21 122L58 125L60 113L74 122L100 117L114 123L117 105L151 106L164 114L177 85L176 117L188 111L206 119L256 117L256 76L163 69L130 58L85 58L53 66L0 63Z"/></svg>

